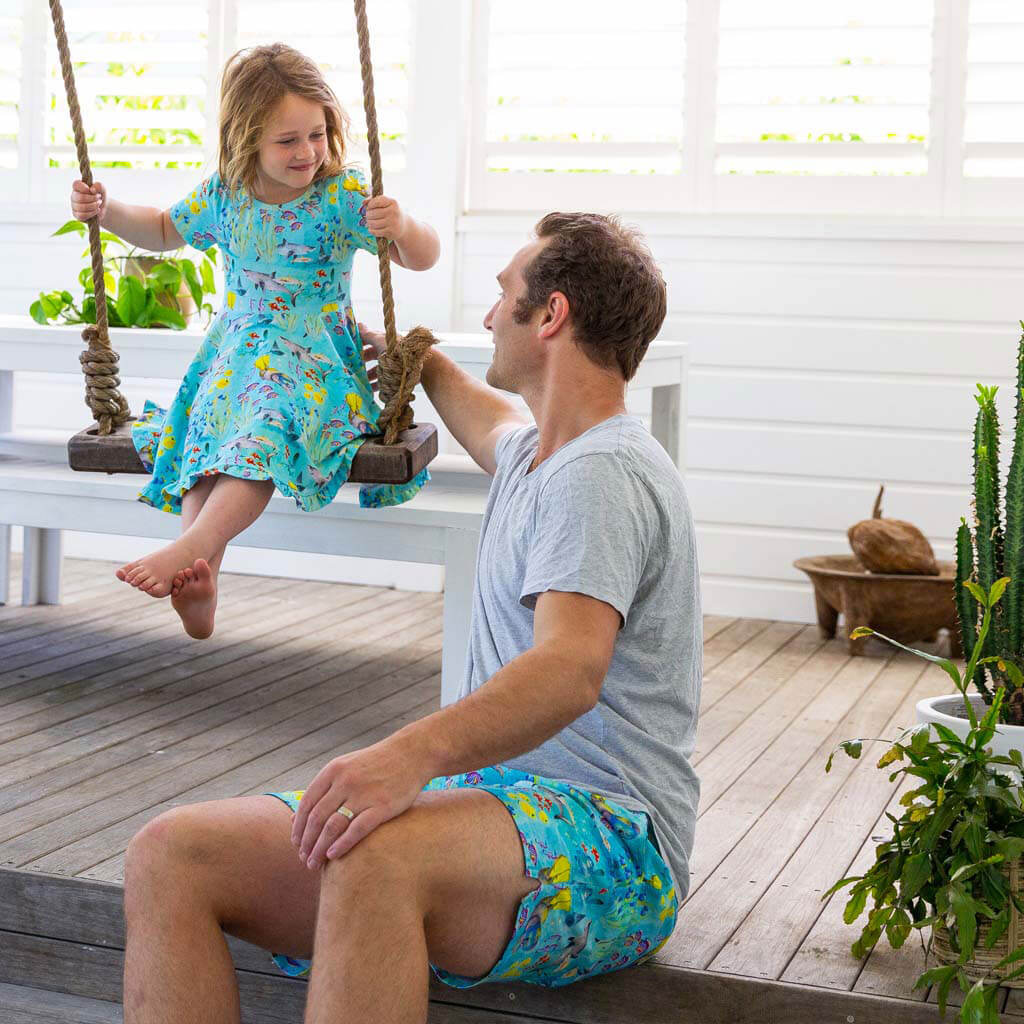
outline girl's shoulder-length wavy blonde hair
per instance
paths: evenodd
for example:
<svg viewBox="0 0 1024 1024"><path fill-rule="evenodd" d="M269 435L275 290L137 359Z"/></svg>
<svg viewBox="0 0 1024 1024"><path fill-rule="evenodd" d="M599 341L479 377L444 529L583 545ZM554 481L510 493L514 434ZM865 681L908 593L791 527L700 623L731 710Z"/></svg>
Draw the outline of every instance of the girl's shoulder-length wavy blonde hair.
<svg viewBox="0 0 1024 1024"><path fill-rule="evenodd" d="M217 170L231 191L253 194L266 118L289 93L319 103L327 122L327 157L313 180L345 168L348 115L319 69L284 43L252 46L232 54L220 83L220 145Z"/></svg>

